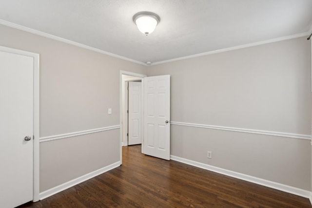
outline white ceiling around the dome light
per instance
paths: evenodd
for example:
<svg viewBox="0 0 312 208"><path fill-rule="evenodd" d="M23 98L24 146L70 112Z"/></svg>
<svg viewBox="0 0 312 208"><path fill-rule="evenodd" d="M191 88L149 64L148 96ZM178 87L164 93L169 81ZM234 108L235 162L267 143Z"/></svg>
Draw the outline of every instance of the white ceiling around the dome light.
<svg viewBox="0 0 312 208"><path fill-rule="evenodd" d="M140 11L161 19L147 37L132 21ZM306 35L312 0L0 0L0 19L155 63Z"/></svg>

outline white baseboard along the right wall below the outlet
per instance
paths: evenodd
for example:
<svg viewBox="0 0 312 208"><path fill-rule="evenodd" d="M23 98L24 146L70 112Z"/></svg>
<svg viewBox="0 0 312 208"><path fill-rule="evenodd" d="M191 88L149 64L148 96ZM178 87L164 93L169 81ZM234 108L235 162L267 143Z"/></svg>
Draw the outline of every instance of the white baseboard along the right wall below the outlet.
<svg viewBox="0 0 312 208"><path fill-rule="evenodd" d="M298 196L302 196L302 197L305 197L305 198L309 198L311 196L311 191L308 191L308 190L299 189L299 188L296 188L296 187L291 187L291 186L288 186L288 185L285 185L285 184L280 184L280 183L276 183L276 182L273 182L273 181L265 180L265 179L262 179L262 178L257 178L257 177L251 176L251 175L246 175L246 174L235 172L235 171L232 171L232 170L226 170L226 169L218 168L218 167L215 167L215 166L207 165L207 164L204 164L204 163L199 163L199 162L196 162L196 161L193 161L193 160L188 160L188 159L177 157L177 156L174 156L174 155L171 155L170 159L178 161L178 162L181 162L181 163L184 163L184 164L188 164L188 165L191 165L191 166L195 166L197 168L210 170L210 171L217 172L217 173L220 173L220 174L223 174L223 175L227 175L227 176L238 178L238 179L241 179L241 180L244 180L244 181L249 181L249 182L252 182L252 183L255 183L255 184L259 184L259 185L262 185L262 186L265 186L265 187L270 187L272 189L277 189L277 190L281 190L281 191L284 191L284 192L292 193L292 194L295 194L295 195L298 195Z"/></svg>

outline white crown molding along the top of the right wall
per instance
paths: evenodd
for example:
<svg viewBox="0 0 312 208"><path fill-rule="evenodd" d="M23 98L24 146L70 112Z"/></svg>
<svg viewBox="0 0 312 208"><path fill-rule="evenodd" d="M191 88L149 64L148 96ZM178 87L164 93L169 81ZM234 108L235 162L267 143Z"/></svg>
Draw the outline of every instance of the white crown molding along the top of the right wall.
<svg viewBox="0 0 312 208"><path fill-rule="evenodd" d="M248 44L244 44L244 45L238 45L238 46L234 46L234 47L230 47L230 48L224 48L224 49L220 49L220 50L209 51L209 52L205 52L205 53L201 53L201 54L195 54L195 55L186 56L186 57L178 57L178 58L168 59L168 60L164 60L164 61L158 61L158 62L152 63L151 65L168 63L168 62L172 62L172 61L178 61L178 60L194 58L194 57L202 57L202 56L206 56L206 55L218 54L218 53L223 53L223 52L227 52L227 51L234 51L237 49L249 48L249 47L253 47L253 46L257 46L257 45L279 42L279 41L293 39L293 38L301 38L301 37L307 36L308 34L309 34L308 32L305 32L305 33L299 33L299 34L295 34L295 35L291 35L291 36L284 36L284 37L280 37L280 38L268 39L268 40L264 40L264 41L248 43Z"/></svg>

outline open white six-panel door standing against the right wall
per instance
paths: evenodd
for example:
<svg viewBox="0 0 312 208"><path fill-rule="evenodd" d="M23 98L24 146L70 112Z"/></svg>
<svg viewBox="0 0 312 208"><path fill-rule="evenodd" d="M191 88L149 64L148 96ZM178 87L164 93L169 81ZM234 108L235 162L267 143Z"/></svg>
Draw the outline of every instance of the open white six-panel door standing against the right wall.
<svg viewBox="0 0 312 208"><path fill-rule="evenodd" d="M144 154L170 160L170 75L144 78Z"/></svg>

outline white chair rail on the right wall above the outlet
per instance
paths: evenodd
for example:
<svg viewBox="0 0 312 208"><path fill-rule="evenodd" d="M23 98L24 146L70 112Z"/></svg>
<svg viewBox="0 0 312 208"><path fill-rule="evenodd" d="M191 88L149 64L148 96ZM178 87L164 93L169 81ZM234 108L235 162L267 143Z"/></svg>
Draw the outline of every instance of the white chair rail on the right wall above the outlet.
<svg viewBox="0 0 312 208"><path fill-rule="evenodd" d="M234 127L212 126L212 125L206 125L206 124L183 123L183 122L175 122L175 121L171 121L170 124L177 125L177 126L216 129L216 130L231 131L231 132L255 133L255 134L263 134L263 135L270 135L270 136L281 136L281 137L287 137L287 138L311 140L311 135L307 135L307 134L272 132L272 131L263 131L263 130L255 130L255 129L241 129L241 128L234 128Z"/></svg>

